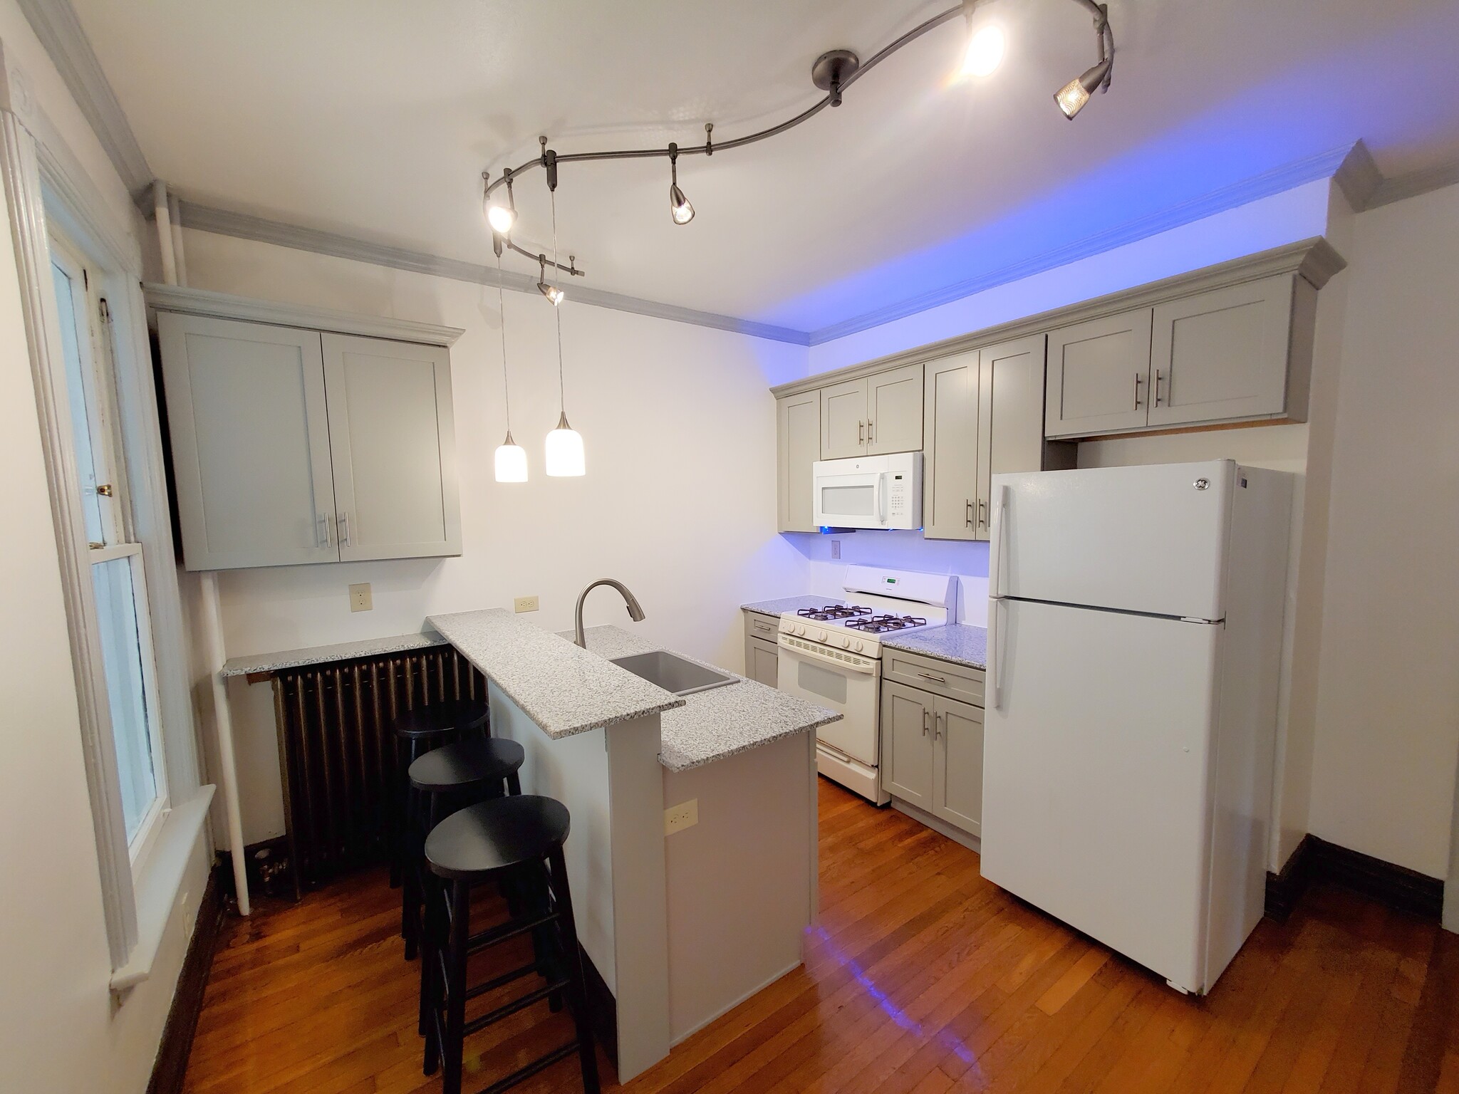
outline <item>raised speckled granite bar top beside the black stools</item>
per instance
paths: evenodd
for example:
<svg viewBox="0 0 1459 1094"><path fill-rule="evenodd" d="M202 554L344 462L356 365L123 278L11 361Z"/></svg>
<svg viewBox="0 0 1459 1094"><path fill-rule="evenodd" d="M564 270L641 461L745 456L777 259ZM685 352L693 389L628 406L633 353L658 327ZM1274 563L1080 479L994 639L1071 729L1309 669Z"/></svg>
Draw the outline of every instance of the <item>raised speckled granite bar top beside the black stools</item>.
<svg viewBox="0 0 1459 1094"><path fill-rule="evenodd" d="M455 611L426 621L553 740L684 705L506 608Z"/></svg>

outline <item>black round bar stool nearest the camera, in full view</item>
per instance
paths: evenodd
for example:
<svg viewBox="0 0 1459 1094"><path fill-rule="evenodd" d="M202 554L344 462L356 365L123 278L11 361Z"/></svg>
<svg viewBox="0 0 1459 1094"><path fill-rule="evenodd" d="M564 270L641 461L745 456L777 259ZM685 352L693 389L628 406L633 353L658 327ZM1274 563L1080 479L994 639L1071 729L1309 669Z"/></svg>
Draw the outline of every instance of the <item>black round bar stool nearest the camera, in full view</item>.
<svg viewBox="0 0 1459 1094"><path fill-rule="evenodd" d="M588 1031L582 955L572 919L568 866L568 807L553 798L519 795L468 805L446 817L426 837L426 862L442 880L427 893L426 931L432 936L426 982L425 1072L444 1066L442 1094L461 1091L463 1043L471 1033L502 1021L541 999L566 995L576 1036L487 1087L515 1087L557 1060L578 1053L582 1087L598 1094L598 1063ZM528 899L505 923L471 934L471 890L512 878ZM533 934L534 961L481 983L467 983L467 957L509 938ZM467 1021L465 1002L531 973L547 983Z"/></svg>

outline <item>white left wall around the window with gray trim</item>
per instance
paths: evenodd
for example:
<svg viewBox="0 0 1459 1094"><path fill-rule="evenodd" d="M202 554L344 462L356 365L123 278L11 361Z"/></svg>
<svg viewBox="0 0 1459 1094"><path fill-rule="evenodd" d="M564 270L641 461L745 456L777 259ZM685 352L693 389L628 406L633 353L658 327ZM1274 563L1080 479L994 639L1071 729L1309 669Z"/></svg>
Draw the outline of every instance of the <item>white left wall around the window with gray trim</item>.
<svg viewBox="0 0 1459 1094"><path fill-rule="evenodd" d="M0 0L6 61L23 71L108 212L134 213L121 179L13 0ZM187 869L153 974L115 1005L82 760L76 683L20 314L9 222L0 228L0 1090L136 1094L162 1024L207 877L206 843Z"/></svg>

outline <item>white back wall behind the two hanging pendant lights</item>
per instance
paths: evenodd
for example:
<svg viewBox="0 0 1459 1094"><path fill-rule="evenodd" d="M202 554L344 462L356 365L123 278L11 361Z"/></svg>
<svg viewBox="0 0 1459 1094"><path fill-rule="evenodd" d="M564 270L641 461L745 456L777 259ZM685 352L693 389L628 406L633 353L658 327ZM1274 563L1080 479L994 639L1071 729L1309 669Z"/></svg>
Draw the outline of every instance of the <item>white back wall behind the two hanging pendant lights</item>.
<svg viewBox="0 0 1459 1094"><path fill-rule="evenodd" d="M187 230L194 287L465 328L452 347L464 554L228 572L220 581L231 656L416 632L426 616L511 607L537 594L533 621L572 626L578 592L622 579L655 642L740 668L740 604L800 592L807 562L775 532L772 384L805 371L805 349L585 305L563 305L568 416L588 454L584 478L543 474L557 420L552 306L506 293L512 432L531 480L498 484L505 432L495 289L268 244ZM484 236L484 232L483 232ZM481 239L489 254L489 242ZM346 586L374 585L352 614ZM626 624L597 589L585 621ZM245 839L279 834L283 814L268 686L232 690Z"/></svg>

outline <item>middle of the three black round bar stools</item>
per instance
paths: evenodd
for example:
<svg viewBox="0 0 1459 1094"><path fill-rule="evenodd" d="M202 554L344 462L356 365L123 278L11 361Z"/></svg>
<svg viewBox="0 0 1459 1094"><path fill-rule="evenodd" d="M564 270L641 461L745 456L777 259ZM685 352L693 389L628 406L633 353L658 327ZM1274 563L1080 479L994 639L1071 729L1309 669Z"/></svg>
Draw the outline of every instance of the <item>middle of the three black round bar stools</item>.
<svg viewBox="0 0 1459 1094"><path fill-rule="evenodd" d="M525 759L516 741L481 737L432 748L407 769L400 896L400 934L406 939L407 961L414 960L420 942L420 909L427 882L426 834L465 805L521 794L518 772Z"/></svg>

